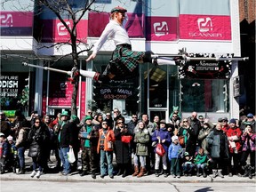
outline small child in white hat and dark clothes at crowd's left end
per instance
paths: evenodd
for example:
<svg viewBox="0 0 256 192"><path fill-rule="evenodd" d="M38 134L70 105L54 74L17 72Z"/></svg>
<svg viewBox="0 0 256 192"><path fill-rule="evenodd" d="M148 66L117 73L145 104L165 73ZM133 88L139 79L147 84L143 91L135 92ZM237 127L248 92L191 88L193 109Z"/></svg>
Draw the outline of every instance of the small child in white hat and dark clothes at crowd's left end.
<svg viewBox="0 0 256 192"><path fill-rule="evenodd" d="M13 138L11 135L7 137L7 140L10 144L11 150L10 150L10 168L12 168L12 172L16 173L16 168L19 168L19 157L18 157L18 150L15 146L15 142L13 141Z"/></svg>

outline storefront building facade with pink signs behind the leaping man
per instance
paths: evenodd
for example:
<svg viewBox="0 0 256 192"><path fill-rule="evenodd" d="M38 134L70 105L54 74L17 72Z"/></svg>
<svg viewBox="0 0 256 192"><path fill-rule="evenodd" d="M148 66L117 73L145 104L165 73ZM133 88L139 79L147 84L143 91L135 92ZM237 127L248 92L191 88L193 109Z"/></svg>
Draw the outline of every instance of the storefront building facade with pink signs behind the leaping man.
<svg viewBox="0 0 256 192"><path fill-rule="evenodd" d="M74 2L76 9L84 4L84 1ZM44 12L38 14L35 4L36 1L31 1L13 10L9 3L1 12L1 108L11 111L10 114L21 108L27 114L37 110L55 116L71 105L72 84L67 76L21 64L29 60L39 66L70 70L73 67L70 58L52 61L70 52L68 45L52 46L68 41L68 33L53 12L43 7ZM77 25L78 38L84 43L77 45L80 50L98 40L108 23L108 12L117 5L128 10L125 28L134 51L151 50L168 55L186 48L195 57L241 56L238 0L129 1L129 4L97 0ZM72 25L68 14L60 14L67 25ZM108 41L89 63L84 59L91 52L83 52L79 68L102 72L114 49L115 44ZM145 63L132 79L108 84L80 77L78 116L84 116L86 108L109 111L117 107L128 115L146 112L151 118L158 115L168 120L172 108L179 107L182 116L197 111L213 122L220 116L238 118L244 95L242 89L237 89L244 86L242 80L237 80L243 78L238 61L200 61L189 66L197 67L191 70ZM220 72L221 68L225 72Z"/></svg>

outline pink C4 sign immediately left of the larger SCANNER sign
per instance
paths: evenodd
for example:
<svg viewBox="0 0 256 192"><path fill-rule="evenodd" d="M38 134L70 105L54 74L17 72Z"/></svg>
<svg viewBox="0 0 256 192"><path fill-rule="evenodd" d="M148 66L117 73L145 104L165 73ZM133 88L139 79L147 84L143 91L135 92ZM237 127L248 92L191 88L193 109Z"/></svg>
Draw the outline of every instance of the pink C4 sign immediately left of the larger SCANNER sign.
<svg viewBox="0 0 256 192"><path fill-rule="evenodd" d="M177 39L176 17L147 17L147 40L174 41Z"/></svg>

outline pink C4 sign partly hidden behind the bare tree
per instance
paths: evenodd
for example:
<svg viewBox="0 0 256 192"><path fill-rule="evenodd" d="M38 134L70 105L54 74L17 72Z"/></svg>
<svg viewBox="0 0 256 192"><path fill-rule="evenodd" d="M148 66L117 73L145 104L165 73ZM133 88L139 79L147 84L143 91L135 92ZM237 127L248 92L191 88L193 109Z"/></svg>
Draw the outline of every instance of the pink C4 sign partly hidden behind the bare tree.
<svg viewBox="0 0 256 192"><path fill-rule="evenodd" d="M70 42L70 36L68 33L68 29L65 28L60 20L42 20L43 22L43 42ZM68 28L73 27L72 20L65 20ZM76 33L77 39L86 43L87 42L87 29L88 28L88 20L80 20L77 24Z"/></svg>

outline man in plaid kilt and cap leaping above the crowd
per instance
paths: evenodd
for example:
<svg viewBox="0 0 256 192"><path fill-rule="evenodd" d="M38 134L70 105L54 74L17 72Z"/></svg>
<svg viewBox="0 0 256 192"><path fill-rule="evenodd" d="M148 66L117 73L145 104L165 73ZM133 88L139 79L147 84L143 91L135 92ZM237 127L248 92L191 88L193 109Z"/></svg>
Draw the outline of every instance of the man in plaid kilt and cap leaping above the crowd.
<svg viewBox="0 0 256 192"><path fill-rule="evenodd" d="M127 12L123 7L117 6L111 10L110 21L102 32L98 42L94 44L92 54L86 61L93 60L101 46L111 38L116 44L112 57L105 71L100 74L94 71L81 70L80 75L91 77L96 81L108 81L110 79L122 80L135 76L140 63L150 62L155 65L176 65L175 59L157 59L153 57L153 52L133 52L131 41L124 28L127 21ZM177 58L177 60L180 58ZM178 62L177 62L178 65ZM78 73L79 74L79 73Z"/></svg>

